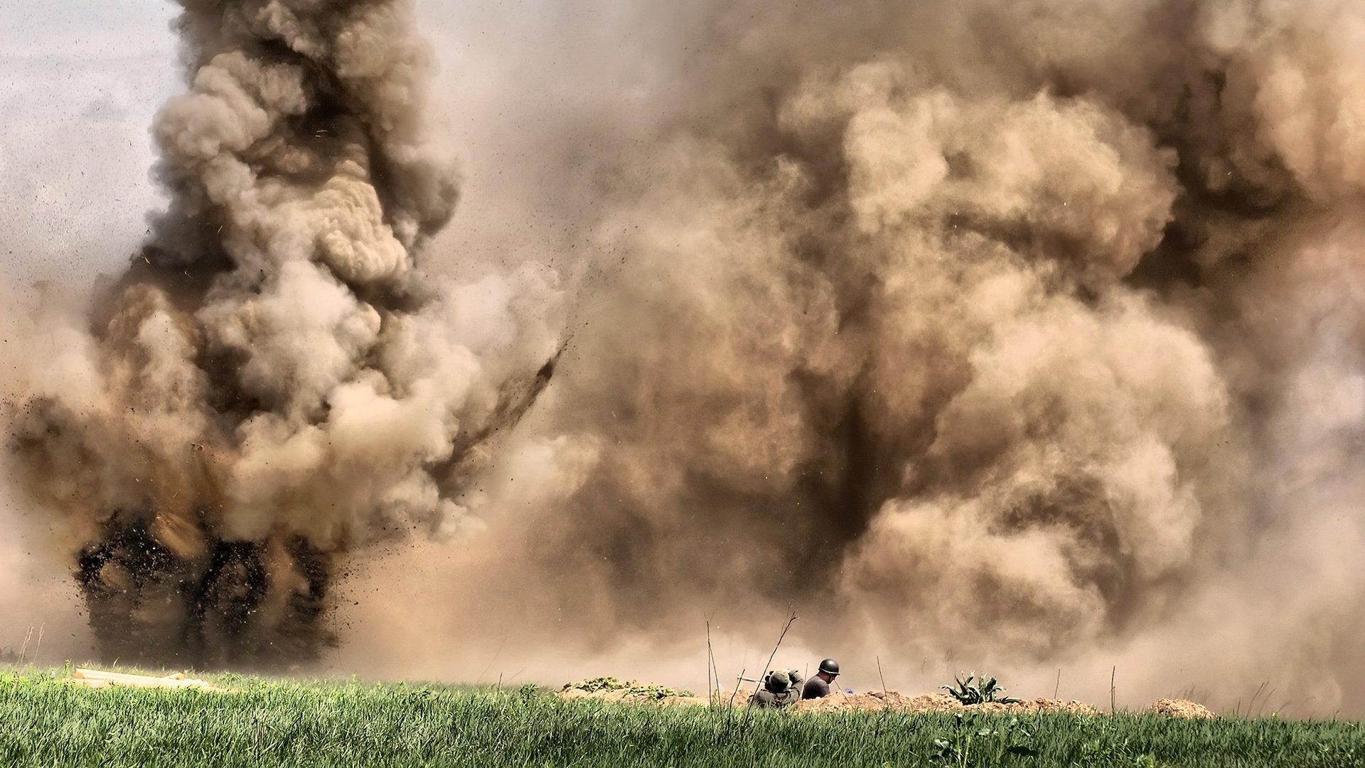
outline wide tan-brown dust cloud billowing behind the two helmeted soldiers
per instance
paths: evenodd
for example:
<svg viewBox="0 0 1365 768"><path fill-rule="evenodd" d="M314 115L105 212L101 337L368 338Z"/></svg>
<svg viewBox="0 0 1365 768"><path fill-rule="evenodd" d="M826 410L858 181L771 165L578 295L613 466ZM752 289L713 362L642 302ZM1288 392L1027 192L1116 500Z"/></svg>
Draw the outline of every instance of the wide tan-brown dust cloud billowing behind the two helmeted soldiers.
<svg viewBox="0 0 1365 768"><path fill-rule="evenodd" d="M572 491L505 473L526 562L474 615L597 652L797 605L803 641L902 670L1365 705L1365 11L658 16L627 26L658 87L610 112L648 127L598 156L603 256L531 430Z"/></svg>

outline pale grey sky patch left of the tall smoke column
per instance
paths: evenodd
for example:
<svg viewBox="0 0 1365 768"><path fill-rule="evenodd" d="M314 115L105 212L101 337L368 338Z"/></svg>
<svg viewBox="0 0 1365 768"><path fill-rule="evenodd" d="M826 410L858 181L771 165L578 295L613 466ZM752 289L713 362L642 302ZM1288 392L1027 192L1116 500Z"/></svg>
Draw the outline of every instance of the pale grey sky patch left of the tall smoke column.
<svg viewBox="0 0 1365 768"><path fill-rule="evenodd" d="M0 0L0 257L11 286L89 283L157 204L147 126L177 83L173 5Z"/></svg>

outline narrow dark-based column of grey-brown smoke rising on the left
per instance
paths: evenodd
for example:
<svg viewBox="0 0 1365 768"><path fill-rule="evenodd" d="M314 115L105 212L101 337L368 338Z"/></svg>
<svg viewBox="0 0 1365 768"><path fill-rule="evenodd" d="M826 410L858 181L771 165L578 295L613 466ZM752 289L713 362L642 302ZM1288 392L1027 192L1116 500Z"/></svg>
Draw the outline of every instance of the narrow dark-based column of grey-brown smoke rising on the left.
<svg viewBox="0 0 1365 768"><path fill-rule="evenodd" d="M418 271L457 184L411 3L182 5L173 202L89 331L55 331L15 444L104 656L295 660L330 641L336 553L476 527L457 467L553 370L553 287Z"/></svg>

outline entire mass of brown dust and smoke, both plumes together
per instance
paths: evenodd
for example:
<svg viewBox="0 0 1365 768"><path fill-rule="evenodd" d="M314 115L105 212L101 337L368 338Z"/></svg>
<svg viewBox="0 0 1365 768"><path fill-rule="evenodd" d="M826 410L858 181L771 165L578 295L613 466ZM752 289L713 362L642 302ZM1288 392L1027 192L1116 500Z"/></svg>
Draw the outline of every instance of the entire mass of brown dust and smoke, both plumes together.
<svg viewBox="0 0 1365 768"><path fill-rule="evenodd" d="M182 4L171 204L15 385L101 655L695 686L796 607L867 685L1365 712L1365 8L549 1L433 81L441 3ZM442 239L461 78L527 213Z"/></svg>

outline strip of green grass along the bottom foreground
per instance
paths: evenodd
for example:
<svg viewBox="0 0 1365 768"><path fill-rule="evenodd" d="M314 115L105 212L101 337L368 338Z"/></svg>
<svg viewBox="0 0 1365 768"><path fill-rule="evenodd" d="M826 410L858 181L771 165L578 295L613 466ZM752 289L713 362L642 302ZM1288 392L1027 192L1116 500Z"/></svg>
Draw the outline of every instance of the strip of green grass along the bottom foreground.
<svg viewBox="0 0 1365 768"><path fill-rule="evenodd" d="M0 672L0 765L1365 765L1354 722L726 713L530 687L209 679L238 693Z"/></svg>

